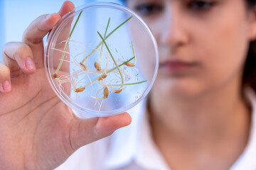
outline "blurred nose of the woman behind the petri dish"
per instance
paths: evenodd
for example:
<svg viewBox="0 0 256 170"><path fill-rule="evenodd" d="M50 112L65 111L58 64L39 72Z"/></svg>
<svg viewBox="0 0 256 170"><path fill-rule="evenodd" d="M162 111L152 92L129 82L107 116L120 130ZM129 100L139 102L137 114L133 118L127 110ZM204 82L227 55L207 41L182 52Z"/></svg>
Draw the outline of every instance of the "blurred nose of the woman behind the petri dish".
<svg viewBox="0 0 256 170"><path fill-rule="evenodd" d="M162 27L161 44L168 45L171 50L182 47L188 43L188 33L181 11L175 6L166 8L165 26Z"/></svg>

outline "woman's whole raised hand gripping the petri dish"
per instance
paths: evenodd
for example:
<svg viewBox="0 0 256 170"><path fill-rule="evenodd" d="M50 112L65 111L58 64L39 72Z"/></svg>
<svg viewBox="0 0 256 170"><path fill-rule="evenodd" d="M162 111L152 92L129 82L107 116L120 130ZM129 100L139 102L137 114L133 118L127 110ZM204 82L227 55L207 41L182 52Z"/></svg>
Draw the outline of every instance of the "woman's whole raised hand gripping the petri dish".
<svg viewBox="0 0 256 170"><path fill-rule="evenodd" d="M129 125L128 113L109 118L77 118L55 96L43 67L43 37L73 10L36 18L23 42L4 45L0 62L0 169L54 169L76 149Z"/></svg>

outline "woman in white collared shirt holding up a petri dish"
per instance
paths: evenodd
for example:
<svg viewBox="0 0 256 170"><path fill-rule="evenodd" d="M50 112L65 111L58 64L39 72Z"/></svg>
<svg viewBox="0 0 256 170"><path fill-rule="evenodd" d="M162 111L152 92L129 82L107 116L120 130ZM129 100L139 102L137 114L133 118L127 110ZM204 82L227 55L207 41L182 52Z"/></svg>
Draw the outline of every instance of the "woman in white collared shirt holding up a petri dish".
<svg viewBox="0 0 256 170"><path fill-rule="evenodd" d="M159 45L149 100L129 111L138 116L131 127L82 147L59 169L256 169L256 98L247 88L256 89L252 49L247 57L256 38L255 4L127 0ZM72 9L65 1L58 14L31 23L23 42L4 47L1 169L53 169L130 123L127 113L79 120L42 85L41 38Z"/></svg>

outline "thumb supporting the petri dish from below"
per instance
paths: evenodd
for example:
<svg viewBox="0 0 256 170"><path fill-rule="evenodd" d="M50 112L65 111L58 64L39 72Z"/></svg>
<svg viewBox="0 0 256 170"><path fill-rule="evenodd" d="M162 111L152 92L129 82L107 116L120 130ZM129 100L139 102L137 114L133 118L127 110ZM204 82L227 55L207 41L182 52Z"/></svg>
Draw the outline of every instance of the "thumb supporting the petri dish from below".
<svg viewBox="0 0 256 170"><path fill-rule="evenodd" d="M131 121L132 118L128 113L73 121L70 145L75 151L79 147L111 135L114 130L129 125Z"/></svg>

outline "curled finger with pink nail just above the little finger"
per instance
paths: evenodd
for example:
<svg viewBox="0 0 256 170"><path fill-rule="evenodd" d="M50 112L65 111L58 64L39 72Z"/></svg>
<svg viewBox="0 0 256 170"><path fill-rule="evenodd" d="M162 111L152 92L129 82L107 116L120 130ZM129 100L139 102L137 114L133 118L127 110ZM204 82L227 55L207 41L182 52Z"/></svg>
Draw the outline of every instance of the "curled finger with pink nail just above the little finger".
<svg viewBox="0 0 256 170"><path fill-rule="evenodd" d="M24 42L9 42L3 47L3 61L11 71L11 76L16 77L22 72L32 74L36 72L31 48Z"/></svg>

